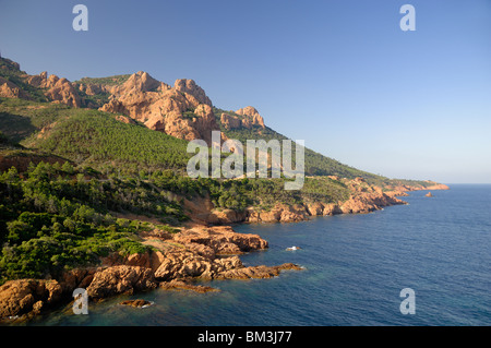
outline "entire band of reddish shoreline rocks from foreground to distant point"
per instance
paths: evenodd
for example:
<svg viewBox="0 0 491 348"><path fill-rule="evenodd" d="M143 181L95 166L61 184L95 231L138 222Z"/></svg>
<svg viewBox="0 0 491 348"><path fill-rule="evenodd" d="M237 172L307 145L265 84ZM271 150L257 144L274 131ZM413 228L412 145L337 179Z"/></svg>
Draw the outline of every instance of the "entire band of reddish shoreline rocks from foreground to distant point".
<svg viewBox="0 0 491 348"><path fill-rule="evenodd" d="M357 181L361 184L364 181ZM370 187L370 185L369 185ZM57 279L15 279L0 287L0 323L19 324L47 311L73 302L76 288L87 290L89 301L101 301L119 295L133 295L156 288L191 290L195 292L219 291L195 285L195 280L225 280L271 278L285 269L302 269L287 263L277 266L246 267L239 255L267 250L268 243L259 235L238 233L231 225L296 223L314 216L337 214L367 214L385 206L407 204L397 199L411 191L448 190L447 185L428 188L397 187L385 191L363 184L355 188L345 202L324 204L311 202L297 206L276 205L271 212L247 209L240 215L233 211L196 211L196 203L188 203L191 221L181 231L168 233L154 230L140 236L152 249L144 254L121 256L112 254L100 260L100 265L74 268ZM203 202L201 202L203 203ZM184 206L185 206L184 202ZM200 205L200 202L199 204ZM209 204L201 204L209 207ZM212 204L213 206L213 204ZM194 207L194 211L193 211ZM203 219L204 218L204 219Z"/></svg>

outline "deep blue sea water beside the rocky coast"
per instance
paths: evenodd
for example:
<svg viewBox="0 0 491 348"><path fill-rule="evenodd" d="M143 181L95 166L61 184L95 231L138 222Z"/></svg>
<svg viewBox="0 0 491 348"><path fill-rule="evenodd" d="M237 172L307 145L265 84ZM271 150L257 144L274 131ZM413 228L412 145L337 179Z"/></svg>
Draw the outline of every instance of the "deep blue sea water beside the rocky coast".
<svg viewBox="0 0 491 348"><path fill-rule="evenodd" d="M35 325L490 325L491 185L451 185L412 192L409 205L367 215L316 217L298 224L241 225L267 251L246 265L292 262L306 269L272 279L203 283L220 292L155 290L69 307ZM286 251L298 245L301 250ZM403 315L399 292L416 293L416 313ZM128 298L154 302L119 305Z"/></svg>

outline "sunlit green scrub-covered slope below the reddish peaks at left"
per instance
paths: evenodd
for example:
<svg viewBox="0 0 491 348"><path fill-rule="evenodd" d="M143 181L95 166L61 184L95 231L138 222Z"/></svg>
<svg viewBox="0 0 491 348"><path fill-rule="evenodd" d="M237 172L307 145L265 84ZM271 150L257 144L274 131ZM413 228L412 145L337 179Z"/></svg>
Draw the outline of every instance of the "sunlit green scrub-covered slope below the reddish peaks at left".
<svg viewBox="0 0 491 348"><path fill-rule="evenodd" d="M183 169L187 142L92 109L0 98L0 131L13 142L75 161L140 169Z"/></svg>

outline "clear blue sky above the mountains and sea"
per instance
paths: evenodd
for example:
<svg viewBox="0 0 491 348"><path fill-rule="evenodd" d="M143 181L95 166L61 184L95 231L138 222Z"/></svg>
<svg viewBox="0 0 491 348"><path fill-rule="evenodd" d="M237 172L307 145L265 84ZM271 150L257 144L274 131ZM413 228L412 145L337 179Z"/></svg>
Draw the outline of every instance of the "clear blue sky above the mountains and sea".
<svg viewBox="0 0 491 348"><path fill-rule="evenodd" d="M77 3L88 32L72 29ZM405 3L416 32L399 28ZM0 49L71 81L193 79L350 166L491 182L490 0L0 0Z"/></svg>

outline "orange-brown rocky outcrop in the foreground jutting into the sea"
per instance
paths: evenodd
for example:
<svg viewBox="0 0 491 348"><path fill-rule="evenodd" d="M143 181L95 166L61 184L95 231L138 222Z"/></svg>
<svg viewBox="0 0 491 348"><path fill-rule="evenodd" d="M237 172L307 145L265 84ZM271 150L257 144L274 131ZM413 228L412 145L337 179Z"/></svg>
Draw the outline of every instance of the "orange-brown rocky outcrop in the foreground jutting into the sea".
<svg viewBox="0 0 491 348"><path fill-rule="evenodd" d="M238 233L229 226L194 225L178 233L161 230L142 236L152 247L143 254L111 254L100 265L64 272L57 279L16 279L0 287L0 319L29 320L46 310L69 303L73 290L86 289L89 301L132 295L156 288L218 291L195 280L271 278L295 264L246 267L238 255L268 248L258 235Z"/></svg>

